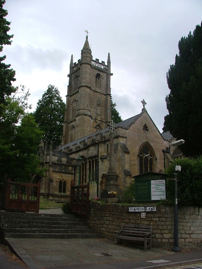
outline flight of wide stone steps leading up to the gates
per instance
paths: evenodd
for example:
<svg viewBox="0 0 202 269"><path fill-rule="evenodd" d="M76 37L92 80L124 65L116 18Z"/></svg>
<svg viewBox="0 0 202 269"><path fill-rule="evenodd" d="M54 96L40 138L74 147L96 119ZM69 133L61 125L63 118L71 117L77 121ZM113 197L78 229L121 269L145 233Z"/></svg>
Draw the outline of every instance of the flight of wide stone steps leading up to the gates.
<svg viewBox="0 0 202 269"><path fill-rule="evenodd" d="M0 211L4 238L100 238L72 214Z"/></svg>

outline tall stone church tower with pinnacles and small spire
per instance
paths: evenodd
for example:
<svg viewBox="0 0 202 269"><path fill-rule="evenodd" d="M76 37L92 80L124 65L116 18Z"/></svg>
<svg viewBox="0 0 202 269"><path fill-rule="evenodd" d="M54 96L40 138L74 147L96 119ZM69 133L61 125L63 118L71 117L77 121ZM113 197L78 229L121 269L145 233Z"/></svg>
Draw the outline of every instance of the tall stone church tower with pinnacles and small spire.
<svg viewBox="0 0 202 269"><path fill-rule="evenodd" d="M111 60L92 60L88 35L81 59L70 62L63 144L102 130L111 120Z"/></svg>

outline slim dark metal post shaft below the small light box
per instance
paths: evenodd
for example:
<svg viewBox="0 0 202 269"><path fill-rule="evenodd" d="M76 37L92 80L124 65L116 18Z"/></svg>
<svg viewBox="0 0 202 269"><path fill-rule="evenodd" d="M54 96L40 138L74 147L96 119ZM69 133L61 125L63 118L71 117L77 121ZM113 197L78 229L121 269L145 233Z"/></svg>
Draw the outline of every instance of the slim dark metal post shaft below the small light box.
<svg viewBox="0 0 202 269"><path fill-rule="evenodd" d="M178 247L178 204L177 204L177 173L174 174L174 182L175 182L175 207L174 207L174 246L173 251L180 251Z"/></svg>

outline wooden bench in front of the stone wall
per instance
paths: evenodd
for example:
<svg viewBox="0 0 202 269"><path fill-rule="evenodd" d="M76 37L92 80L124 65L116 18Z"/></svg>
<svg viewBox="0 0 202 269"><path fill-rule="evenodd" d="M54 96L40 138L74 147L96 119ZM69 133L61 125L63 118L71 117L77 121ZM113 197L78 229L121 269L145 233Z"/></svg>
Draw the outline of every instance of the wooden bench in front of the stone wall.
<svg viewBox="0 0 202 269"><path fill-rule="evenodd" d="M115 244L117 239L144 241L144 250L151 248L152 225L122 224L120 231L115 231Z"/></svg>

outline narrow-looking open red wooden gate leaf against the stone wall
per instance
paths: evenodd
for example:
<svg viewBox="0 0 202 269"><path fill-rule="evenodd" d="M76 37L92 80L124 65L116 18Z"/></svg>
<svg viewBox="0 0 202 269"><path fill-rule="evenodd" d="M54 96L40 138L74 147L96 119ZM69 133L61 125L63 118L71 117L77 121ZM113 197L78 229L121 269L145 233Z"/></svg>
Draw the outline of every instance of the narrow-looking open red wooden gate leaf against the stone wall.
<svg viewBox="0 0 202 269"><path fill-rule="evenodd" d="M86 215L89 208L89 183L87 185L74 185L71 181L70 207L72 212Z"/></svg>

